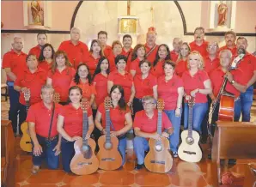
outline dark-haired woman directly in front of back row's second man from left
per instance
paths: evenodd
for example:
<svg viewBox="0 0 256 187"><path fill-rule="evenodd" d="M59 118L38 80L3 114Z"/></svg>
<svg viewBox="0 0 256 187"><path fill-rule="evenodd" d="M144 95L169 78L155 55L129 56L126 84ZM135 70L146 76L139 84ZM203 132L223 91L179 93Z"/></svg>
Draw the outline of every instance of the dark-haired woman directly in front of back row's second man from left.
<svg viewBox="0 0 256 187"><path fill-rule="evenodd" d="M39 57L39 67L45 69L48 72L52 69L52 60L54 56L54 49L51 44L46 44L42 47Z"/></svg>

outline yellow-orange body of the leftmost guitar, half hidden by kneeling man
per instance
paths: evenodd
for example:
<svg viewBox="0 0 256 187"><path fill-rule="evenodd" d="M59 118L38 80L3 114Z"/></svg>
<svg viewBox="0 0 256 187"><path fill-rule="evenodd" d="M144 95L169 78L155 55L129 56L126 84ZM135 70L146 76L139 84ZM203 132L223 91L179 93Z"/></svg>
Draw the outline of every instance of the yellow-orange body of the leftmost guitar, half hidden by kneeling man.
<svg viewBox="0 0 256 187"><path fill-rule="evenodd" d="M31 138L28 133L28 124L24 122L21 124L21 131L23 133L21 137L20 147L23 151L32 152Z"/></svg>

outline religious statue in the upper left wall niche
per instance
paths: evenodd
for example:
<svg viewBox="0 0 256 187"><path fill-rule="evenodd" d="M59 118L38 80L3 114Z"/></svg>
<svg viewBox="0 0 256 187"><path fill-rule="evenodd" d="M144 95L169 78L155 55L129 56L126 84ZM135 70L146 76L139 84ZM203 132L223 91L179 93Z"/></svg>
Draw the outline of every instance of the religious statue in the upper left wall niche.
<svg viewBox="0 0 256 187"><path fill-rule="evenodd" d="M33 17L33 23L36 25L44 25L44 10L41 8L39 1L32 1L30 9Z"/></svg>

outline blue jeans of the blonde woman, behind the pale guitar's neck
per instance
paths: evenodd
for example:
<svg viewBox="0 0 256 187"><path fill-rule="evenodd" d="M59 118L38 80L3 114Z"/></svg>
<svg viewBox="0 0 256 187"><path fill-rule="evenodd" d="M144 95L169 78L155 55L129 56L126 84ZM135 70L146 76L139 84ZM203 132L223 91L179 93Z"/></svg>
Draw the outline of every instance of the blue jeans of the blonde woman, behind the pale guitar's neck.
<svg viewBox="0 0 256 187"><path fill-rule="evenodd" d="M201 124L208 109L208 103L196 103L192 110L192 130L201 134ZM184 108L184 129L188 128L188 104L185 103Z"/></svg>

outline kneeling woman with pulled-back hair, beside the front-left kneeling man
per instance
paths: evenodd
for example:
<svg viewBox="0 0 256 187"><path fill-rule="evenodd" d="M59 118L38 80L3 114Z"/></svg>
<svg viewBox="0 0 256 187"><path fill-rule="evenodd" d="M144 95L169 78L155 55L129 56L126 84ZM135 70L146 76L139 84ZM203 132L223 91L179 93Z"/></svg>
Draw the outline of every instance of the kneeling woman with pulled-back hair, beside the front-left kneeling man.
<svg viewBox="0 0 256 187"><path fill-rule="evenodd" d="M82 89L74 86L69 89L69 105L64 106L58 115L57 130L62 136L61 151L62 165L65 172L70 172L70 161L72 160L75 150L74 142L82 138ZM94 120L92 110L88 109L88 139L94 130Z"/></svg>

